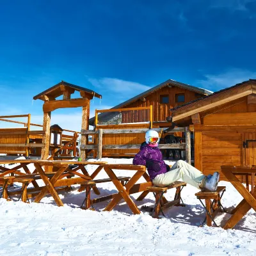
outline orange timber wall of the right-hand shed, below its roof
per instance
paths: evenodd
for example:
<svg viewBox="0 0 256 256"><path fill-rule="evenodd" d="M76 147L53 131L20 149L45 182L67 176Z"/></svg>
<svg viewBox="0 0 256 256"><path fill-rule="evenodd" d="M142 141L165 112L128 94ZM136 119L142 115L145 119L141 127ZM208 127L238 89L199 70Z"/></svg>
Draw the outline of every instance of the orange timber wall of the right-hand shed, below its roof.
<svg viewBox="0 0 256 256"><path fill-rule="evenodd" d="M193 125L195 167L205 175L220 172L221 165L256 164L256 142L243 147L256 140L256 106L247 104L247 97L228 104L200 113L202 124Z"/></svg>

